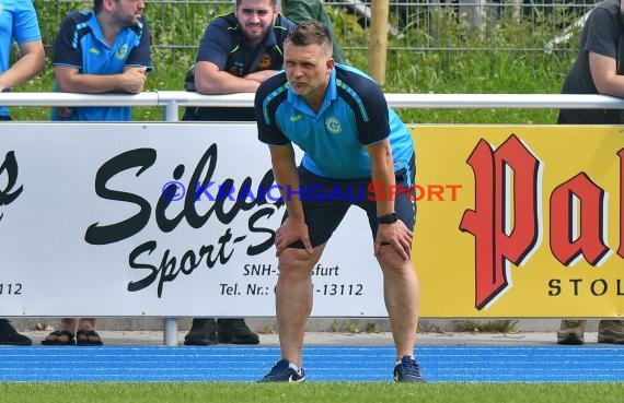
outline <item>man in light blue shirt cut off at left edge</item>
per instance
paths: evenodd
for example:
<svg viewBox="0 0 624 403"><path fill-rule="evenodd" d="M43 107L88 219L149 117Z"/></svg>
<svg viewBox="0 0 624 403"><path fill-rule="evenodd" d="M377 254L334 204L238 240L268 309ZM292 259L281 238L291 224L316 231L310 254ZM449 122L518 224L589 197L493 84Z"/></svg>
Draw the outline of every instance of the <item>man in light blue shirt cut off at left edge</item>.
<svg viewBox="0 0 624 403"><path fill-rule="evenodd" d="M13 39L20 47L20 57L9 67ZM33 2L0 0L0 92L31 80L43 70L45 62L44 44ZM7 120L11 120L9 108L0 106L0 122ZM7 150L2 150L4 152ZM0 318L0 344L32 343L31 339L18 333L7 319Z"/></svg>

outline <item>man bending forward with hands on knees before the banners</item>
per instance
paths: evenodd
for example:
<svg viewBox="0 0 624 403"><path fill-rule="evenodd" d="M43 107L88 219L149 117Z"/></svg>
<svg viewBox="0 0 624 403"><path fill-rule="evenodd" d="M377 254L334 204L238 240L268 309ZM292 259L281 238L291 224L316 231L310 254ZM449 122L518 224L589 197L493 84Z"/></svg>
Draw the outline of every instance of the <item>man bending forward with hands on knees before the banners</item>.
<svg viewBox="0 0 624 403"><path fill-rule="evenodd" d="M357 205L367 212L384 276L396 346L394 380L423 382L414 358L419 289L411 260L416 212L412 135L370 78L335 63L325 25L300 24L284 51L285 72L263 82L255 97L258 139L269 145L287 208L275 239L281 359L262 381L305 380L301 361L312 311L310 268L347 210ZM299 168L293 143L305 153ZM314 197L305 191L310 188ZM353 188L372 194L349 198Z"/></svg>

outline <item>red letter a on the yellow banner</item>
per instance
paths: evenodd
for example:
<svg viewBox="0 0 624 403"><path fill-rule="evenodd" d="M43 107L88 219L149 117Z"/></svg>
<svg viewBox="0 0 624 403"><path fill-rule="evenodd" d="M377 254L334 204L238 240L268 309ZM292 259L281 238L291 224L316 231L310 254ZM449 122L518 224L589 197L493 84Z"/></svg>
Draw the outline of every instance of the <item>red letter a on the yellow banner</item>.
<svg viewBox="0 0 624 403"><path fill-rule="evenodd" d="M578 218L577 218L578 206ZM581 254L596 265L609 252L604 241L604 190L581 173L551 194L551 251L569 265ZM578 228L578 234L575 229Z"/></svg>

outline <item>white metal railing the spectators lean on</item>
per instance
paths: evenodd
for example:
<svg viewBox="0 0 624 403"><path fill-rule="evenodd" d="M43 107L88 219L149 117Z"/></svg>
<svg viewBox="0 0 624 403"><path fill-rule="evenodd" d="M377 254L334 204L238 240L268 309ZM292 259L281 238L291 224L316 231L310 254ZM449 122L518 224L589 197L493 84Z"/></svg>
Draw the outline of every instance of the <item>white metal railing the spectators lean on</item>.
<svg viewBox="0 0 624 403"><path fill-rule="evenodd" d="M396 108L567 108L624 109L624 99L605 95L562 94L385 94ZM201 95L186 91L128 94L0 93L0 106L153 106L164 120L177 121L181 106L251 107L254 94ZM177 319L164 319L164 344L177 345Z"/></svg>

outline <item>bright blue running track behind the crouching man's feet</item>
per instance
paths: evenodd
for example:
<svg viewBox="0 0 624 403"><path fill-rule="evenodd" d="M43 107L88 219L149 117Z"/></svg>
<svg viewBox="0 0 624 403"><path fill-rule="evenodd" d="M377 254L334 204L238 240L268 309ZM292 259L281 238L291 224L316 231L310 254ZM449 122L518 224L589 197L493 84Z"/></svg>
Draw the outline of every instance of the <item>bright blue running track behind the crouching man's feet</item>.
<svg viewBox="0 0 624 403"><path fill-rule="evenodd" d="M420 346L430 382L624 381L624 346ZM277 346L0 347L0 381L256 381ZM390 382L391 346L308 346L308 381Z"/></svg>

